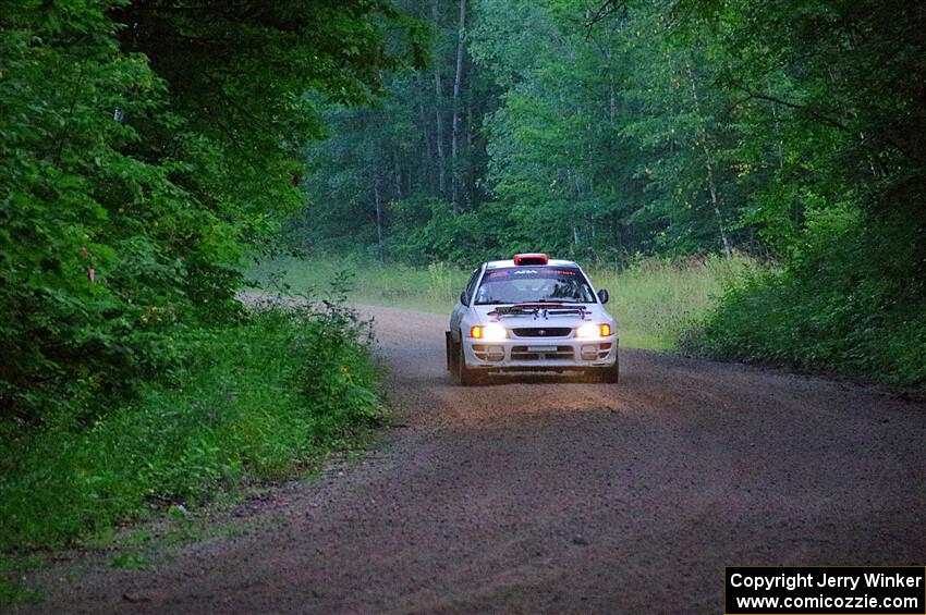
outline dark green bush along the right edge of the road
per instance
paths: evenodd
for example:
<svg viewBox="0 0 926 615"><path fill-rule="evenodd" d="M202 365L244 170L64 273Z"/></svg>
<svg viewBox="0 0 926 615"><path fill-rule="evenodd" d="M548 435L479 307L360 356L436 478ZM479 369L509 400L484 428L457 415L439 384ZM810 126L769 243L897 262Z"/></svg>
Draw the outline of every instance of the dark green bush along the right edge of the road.
<svg viewBox="0 0 926 615"><path fill-rule="evenodd" d="M811 221L788 267L752 270L682 347L904 384L926 384L926 287L912 242L882 242L853 216ZM890 236L903 236L894 229Z"/></svg>

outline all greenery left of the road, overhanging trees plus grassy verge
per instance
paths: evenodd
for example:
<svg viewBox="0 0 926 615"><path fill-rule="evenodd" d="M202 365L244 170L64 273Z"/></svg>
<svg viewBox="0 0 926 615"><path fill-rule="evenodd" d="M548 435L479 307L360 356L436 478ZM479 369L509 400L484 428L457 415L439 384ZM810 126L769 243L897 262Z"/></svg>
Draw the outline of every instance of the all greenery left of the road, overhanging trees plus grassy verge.
<svg viewBox="0 0 926 615"><path fill-rule="evenodd" d="M369 103L422 40L365 0L0 0L0 600L32 554L377 419L342 304L237 295L305 205L319 106Z"/></svg>

